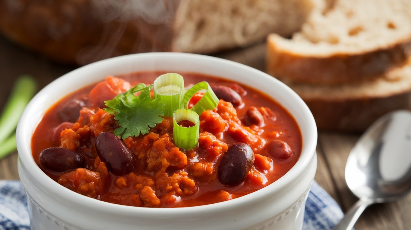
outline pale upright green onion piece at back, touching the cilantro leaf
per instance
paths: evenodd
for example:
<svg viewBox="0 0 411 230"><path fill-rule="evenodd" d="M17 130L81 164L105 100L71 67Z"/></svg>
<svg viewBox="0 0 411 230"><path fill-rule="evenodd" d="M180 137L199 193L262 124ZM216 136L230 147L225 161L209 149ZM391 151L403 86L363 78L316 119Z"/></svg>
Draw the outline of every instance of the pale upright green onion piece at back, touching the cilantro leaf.
<svg viewBox="0 0 411 230"><path fill-rule="evenodd" d="M154 98L165 102L164 116L173 116L176 109L184 108L184 79L178 73L166 73L153 83Z"/></svg>

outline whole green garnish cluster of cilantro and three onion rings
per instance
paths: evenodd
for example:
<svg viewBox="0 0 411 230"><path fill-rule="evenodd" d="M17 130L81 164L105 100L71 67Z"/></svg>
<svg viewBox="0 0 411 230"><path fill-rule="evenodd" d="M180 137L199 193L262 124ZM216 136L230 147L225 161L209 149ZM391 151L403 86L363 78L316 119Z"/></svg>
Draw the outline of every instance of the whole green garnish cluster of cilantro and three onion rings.
<svg viewBox="0 0 411 230"><path fill-rule="evenodd" d="M150 92L153 90L154 98ZM204 96L191 109L183 109L198 91ZM156 78L150 86L137 84L113 100L105 101L109 114L114 114L119 128L114 130L122 139L147 134L150 128L161 123L160 116L173 116L173 138L179 148L194 148L199 139L199 114L214 109L219 100L207 82L199 82L184 93L184 79L177 73L166 73ZM180 121L194 123L192 127L178 125Z"/></svg>

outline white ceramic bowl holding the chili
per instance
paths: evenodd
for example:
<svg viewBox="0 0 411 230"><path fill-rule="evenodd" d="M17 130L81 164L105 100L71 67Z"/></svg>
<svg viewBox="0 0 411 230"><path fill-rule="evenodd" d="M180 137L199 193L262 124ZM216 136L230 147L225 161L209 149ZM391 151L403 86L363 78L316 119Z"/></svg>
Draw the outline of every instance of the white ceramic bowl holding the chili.
<svg viewBox="0 0 411 230"><path fill-rule="evenodd" d="M75 193L49 178L35 163L31 137L46 110L68 93L107 75L146 70L215 75L263 91L296 119L302 153L282 178L251 194L210 205L180 208L130 207ZM178 229L298 230L314 179L317 131L308 107L275 78L233 61L186 53L144 53L98 61L59 77L42 89L25 109L17 128L18 173L28 195L32 230L44 229Z"/></svg>

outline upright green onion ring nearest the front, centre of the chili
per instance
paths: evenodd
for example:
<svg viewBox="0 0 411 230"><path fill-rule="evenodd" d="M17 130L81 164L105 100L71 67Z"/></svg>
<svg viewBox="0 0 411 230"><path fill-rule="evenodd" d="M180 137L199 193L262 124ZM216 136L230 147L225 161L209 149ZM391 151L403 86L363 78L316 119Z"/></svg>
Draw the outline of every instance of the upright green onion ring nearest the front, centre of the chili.
<svg viewBox="0 0 411 230"><path fill-rule="evenodd" d="M180 121L191 121L194 126L182 127ZM190 150L199 143L200 118L191 109L177 109L173 114L173 139L178 148Z"/></svg>

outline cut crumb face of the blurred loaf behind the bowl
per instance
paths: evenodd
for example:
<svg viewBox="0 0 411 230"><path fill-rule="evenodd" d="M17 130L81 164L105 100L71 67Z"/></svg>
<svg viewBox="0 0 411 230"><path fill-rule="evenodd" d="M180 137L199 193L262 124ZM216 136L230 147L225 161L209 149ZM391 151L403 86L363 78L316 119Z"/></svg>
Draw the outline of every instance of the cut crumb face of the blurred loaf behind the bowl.
<svg viewBox="0 0 411 230"><path fill-rule="evenodd" d="M291 36L318 6L318 0L183 0L174 23L173 51L247 46L272 32Z"/></svg>

